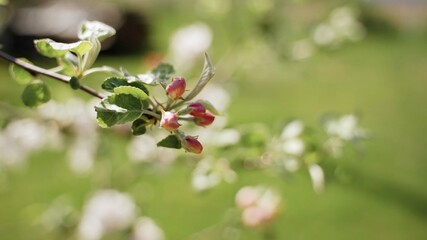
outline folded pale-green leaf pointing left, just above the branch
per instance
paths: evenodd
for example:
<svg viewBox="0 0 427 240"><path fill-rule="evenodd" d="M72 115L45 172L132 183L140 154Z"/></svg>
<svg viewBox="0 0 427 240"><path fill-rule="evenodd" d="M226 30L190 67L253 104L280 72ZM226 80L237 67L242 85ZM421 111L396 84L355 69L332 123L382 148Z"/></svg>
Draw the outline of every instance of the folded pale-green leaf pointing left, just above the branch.
<svg viewBox="0 0 427 240"><path fill-rule="evenodd" d="M34 44L41 55L50 58L65 56L68 52L74 52L79 56L83 56L92 48L92 43L89 41L59 43L49 38L34 40Z"/></svg>

